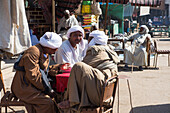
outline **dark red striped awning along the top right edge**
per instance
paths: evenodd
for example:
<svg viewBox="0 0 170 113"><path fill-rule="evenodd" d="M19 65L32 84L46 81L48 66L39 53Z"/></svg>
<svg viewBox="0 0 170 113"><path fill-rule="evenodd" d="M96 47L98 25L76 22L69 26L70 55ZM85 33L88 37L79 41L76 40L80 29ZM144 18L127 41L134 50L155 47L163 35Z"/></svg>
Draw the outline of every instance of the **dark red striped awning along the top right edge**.
<svg viewBox="0 0 170 113"><path fill-rule="evenodd" d="M161 5L162 0L108 0L109 3L127 4L131 3L133 6L151 6L156 7ZM107 0L96 0L96 2L107 2Z"/></svg>

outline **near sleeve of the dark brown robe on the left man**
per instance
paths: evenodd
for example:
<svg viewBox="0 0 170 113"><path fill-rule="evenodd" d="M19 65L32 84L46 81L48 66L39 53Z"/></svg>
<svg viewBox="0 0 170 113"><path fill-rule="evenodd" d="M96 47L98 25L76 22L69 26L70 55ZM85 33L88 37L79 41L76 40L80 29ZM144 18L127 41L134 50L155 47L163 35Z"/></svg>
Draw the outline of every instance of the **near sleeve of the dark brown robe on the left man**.
<svg viewBox="0 0 170 113"><path fill-rule="evenodd" d="M24 57L25 77L37 89L44 91L41 72L39 71L39 57L36 52Z"/></svg>

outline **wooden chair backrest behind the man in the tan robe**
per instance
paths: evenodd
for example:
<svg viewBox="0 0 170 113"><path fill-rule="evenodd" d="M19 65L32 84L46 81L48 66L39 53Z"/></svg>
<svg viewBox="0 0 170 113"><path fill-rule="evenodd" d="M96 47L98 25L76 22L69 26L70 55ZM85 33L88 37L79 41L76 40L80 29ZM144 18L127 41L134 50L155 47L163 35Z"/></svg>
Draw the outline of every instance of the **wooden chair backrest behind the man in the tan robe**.
<svg viewBox="0 0 170 113"><path fill-rule="evenodd" d="M104 91L103 91L103 97L102 97L102 101L100 103L100 105L102 106L104 102L106 102L108 99L113 98L113 102L114 102L114 97L116 94L116 87L117 87L117 81L118 78L115 77L111 77L109 79L106 80L105 85L104 85Z"/></svg>

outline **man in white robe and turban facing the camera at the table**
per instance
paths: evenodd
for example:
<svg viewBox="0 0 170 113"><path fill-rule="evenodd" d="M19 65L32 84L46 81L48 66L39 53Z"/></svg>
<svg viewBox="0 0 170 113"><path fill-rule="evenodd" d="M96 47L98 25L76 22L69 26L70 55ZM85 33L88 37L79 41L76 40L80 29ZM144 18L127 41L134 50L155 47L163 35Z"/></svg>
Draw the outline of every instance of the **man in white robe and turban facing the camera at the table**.
<svg viewBox="0 0 170 113"><path fill-rule="evenodd" d="M67 32L65 40L55 53L57 64L70 63L72 67L76 62L83 60L87 49L87 40L84 40L84 30L81 26L73 26Z"/></svg>

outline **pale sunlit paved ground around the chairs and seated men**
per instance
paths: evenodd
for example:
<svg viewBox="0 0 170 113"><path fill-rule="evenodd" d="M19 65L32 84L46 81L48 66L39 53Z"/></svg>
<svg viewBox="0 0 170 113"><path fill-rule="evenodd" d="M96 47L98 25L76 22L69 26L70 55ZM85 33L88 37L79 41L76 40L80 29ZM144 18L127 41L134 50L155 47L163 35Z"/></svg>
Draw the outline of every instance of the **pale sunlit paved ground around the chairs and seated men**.
<svg viewBox="0 0 170 113"><path fill-rule="evenodd" d="M158 39L159 49L170 49L170 38ZM2 73L7 90L10 90L14 75L12 65L14 60L2 61ZM153 64L153 57L151 57ZM127 75L132 93L133 113L170 113L170 67L168 67L168 55L158 57L159 69L153 67L144 71L120 71L120 75ZM127 80L119 82L119 113L132 113L129 100ZM118 95L114 104L114 113L118 113ZM16 108L19 110L24 109Z"/></svg>

